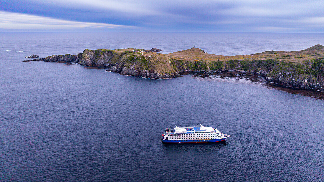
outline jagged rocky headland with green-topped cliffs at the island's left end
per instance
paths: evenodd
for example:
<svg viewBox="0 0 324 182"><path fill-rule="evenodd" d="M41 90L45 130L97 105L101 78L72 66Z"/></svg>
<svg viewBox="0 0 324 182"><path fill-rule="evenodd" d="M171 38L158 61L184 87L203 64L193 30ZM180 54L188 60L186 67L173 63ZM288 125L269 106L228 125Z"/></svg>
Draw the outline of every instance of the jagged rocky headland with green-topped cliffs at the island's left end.
<svg viewBox="0 0 324 182"><path fill-rule="evenodd" d="M25 60L24 62L29 61L73 62L84 66L107 65L111 66L107 71L120 73L122 75L133 75L155 79L166 79L180 76L179 72L158 72L155 69L154 64L151 64L149 60L145 59L145 57L141 57L138 53L131 51L85 49L82 53L77 55L52 55L46 58Z"/></svg>

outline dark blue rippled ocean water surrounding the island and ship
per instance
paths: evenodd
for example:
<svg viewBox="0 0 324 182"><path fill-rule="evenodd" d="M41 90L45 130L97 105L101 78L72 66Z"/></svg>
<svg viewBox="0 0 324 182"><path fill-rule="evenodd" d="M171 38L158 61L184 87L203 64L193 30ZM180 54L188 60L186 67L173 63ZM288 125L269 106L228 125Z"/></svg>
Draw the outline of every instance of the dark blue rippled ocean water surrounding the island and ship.
<svg viewBox="0 0 324 182"><path fill-rule="evenodd" d="M78 64L22 62L84 49L295 51L324 34L0 33L0 181L324 181L324 95L262 77L152 80ZM162 144L166 127L231 137Z"/></svg>

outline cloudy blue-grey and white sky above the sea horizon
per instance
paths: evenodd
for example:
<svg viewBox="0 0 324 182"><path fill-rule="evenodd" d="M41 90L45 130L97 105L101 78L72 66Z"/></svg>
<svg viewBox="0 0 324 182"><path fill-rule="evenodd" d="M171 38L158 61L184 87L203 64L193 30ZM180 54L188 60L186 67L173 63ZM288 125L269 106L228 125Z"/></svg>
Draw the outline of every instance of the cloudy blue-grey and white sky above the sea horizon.
<svg viewBox="0 0 324 182"><path fill-rule="evenodd" d="M318 0L4 0L0 31L324 32Z"/></svg>

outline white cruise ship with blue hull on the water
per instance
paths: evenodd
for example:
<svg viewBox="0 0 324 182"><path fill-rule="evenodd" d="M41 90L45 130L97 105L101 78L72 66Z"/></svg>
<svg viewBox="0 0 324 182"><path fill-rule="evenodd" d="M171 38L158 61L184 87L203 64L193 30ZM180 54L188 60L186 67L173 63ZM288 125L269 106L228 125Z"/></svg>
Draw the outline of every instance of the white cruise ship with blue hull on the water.
<svg viewBox="0 0 324 182"><path fill-rule="evenodd" d="M204 143L220 142L226 140L229 135L219 132L217 129L208 126L193 126L180 128L166 128L162 134L163 143Z"/></svg>

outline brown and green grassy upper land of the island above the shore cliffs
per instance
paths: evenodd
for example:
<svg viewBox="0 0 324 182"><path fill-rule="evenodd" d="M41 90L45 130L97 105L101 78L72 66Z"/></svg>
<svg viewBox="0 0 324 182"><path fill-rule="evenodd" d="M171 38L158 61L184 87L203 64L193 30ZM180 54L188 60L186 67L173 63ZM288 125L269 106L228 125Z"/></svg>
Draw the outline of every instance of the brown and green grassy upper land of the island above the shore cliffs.
<svg viewBox="0 0 324 182"><path fill-rule="evenodd" d="M265 51L236 56L208 54L198 48L169 54L144 52L144 55L129 52L131 50L133 49L119 49L113 50L113 52L124 54L122 62L125 63L125 66L132 66L133 63L136 63L134 68L156 69L160 74L187 70L204 71L207 69L207 65L211 70L253 71L255 69L258 72L261 69L269 70L269 66L275 64L281 68L294 67L294 69L302 71L307 69L305 64L314 60L321 62L320 58L324 58L324 46L322 45L315 45L302 51Z"/></svg>

